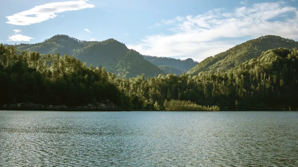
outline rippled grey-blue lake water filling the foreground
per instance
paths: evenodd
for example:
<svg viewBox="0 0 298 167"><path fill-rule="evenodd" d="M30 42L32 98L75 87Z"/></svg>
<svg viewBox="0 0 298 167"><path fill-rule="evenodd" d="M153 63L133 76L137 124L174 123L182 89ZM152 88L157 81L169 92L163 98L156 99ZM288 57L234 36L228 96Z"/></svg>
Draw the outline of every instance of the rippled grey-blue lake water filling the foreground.
<svg viewBox="0 0 298 167"><path fill-rule="evenodd" d="M298 112L0 111L0 166L298 166Z"/></svg>

